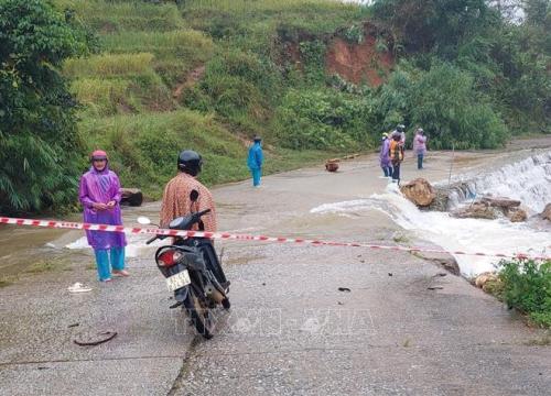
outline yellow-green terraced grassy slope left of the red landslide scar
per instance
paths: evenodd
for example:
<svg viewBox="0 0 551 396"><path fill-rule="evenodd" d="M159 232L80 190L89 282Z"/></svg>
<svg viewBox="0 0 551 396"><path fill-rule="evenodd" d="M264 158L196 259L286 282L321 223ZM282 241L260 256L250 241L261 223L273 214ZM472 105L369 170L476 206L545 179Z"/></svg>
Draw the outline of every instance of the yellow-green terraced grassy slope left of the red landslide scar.
<svg viewBox="0 0 551 396"><path fill-rule="evenodd" d="M186 147L205 156L201 178L207 184L248 177L247 140L256 133L264 136L267 172L360 148L353 144L296 152L276 139L274 110L290 84L266 52L276 44L272 36L281 24L272 15L296 8L284 23L312 34L332 33L360 16L356 8L326 2L309 11L317 14L315 20L304 19L300 9L305 3L255 3L258 8L249 15L240 14L245 3L239 1L215 7L212 1L187 2L182 9L174 2L55 1L60 10L72 10L99 42L97 54L68 59L63 67L71 91L83 105L78 129L88 151L107 150L125 185L159 198L174 175L177 152ZM240 16L234 20L229 13ZM250 29L259 40L224 37L229 32L223 32L226 28L219 22L246 26L249 18L258 20Z"/></svg>

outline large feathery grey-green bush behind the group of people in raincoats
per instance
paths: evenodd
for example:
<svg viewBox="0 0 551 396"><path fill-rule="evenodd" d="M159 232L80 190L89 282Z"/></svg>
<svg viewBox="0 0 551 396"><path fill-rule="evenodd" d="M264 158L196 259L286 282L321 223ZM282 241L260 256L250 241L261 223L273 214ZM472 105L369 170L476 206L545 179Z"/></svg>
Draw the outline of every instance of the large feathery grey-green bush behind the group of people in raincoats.
<svg viewBox="0 0 551 396"><path fill-rule="evenodd" d="M401 64L380 89L377 113L381 131L399 122L421 127L436 150L495 148L509 136L499 114L476 91L473 77L445 63L429 72Z"/></svg>

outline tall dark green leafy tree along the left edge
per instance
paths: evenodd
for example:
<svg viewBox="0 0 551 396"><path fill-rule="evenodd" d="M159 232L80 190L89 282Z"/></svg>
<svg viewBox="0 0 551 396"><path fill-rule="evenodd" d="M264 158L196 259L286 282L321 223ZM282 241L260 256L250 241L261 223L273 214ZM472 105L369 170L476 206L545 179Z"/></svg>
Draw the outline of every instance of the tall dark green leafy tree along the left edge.
<svg viewBox="0 0 551 396"><path fill-rule="evenodd" d="M87 51L50 2L0 0L0 212L74 200L83 145L58 68Z"/></svg>

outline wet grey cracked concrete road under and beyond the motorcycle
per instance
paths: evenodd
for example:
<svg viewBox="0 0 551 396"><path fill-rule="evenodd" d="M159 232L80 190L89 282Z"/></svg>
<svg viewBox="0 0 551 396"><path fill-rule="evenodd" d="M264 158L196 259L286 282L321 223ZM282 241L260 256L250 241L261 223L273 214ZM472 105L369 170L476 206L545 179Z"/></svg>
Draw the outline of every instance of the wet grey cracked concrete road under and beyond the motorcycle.
<svg viewBox="0 0 551 396"><path fill-rule="evenodd" d="M486 155L486 154L485 154ZM456 154L462 168L485 155ZM460 161L461 160L461 161ZM432 153L406 179L447 177ZM378 211L312 215L322 204L365 198L386 180L374 156L274 175L214 190L220 229L269 235L407 241ZM397 237L398 235L398 237ZM403 242L402 242L403 243ZM403 252L217 242L233 280L229 312L204 341L170 310L148 255L130 278L95 283L75 255L72 271L30 275L0 289L0 393L6 395L548 395L544 332L465 279ZM72 295L74 282L94 286ZM339 290L339 288L342 290ZM349 292L348 292L349 290ZM115 330L97 346L77 337Z"/></svg>

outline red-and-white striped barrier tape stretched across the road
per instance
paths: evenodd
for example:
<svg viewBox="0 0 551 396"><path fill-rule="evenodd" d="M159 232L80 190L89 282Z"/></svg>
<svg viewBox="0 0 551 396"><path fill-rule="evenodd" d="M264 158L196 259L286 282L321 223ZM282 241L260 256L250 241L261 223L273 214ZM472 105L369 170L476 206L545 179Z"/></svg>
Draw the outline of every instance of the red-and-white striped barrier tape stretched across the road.
<svg viewBox="0 0 551 396"><path fill-rule="evenodd" d="M471 253L462 251L445 251L440 249L425 249L425 248L407 248L407 246L389 246L376 245L356 242L332 242L322 240L306 240L300 238L282 238L282 237L266 237L266 235L251 235L251 234L234 234L227 232L207 232L207 231L182 231L182 230L168 230L159 228L129 228L123 226L109 226L109 224L91 224L71 221L56 221L56 220L37 220L37 219L18 219L0 217L0 223L15 224L15 226L32 226L32 227L46 227L56 229L69 230L89 230L89 231L106 231L106 232L125 232L133 234L150 234L150 235L169 235L169 237L197 237L207 238L212 240L236 240L236 241L259 241L259 242L278 242L278 243L300 243L311 244L316 246L349 246L349 248L367 248L380 250L393 250L402 252L426 252L426 253L445 253L458 255L473 255L473 256L488 256L501 258L532 258L551 261L551 256L537 256L525 253L504 254L504 253Z"/></svg>

